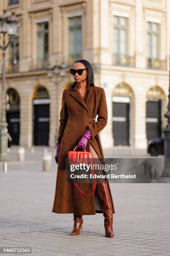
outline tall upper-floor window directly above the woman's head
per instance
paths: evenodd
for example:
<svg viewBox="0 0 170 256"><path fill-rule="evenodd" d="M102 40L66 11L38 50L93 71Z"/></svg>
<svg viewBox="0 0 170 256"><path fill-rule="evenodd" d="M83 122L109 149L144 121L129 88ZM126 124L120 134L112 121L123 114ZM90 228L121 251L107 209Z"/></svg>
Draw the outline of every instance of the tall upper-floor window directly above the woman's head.
<svg viewBox="0 0 170 256"><path fill-rule="evenodd" d="M68 18L68 66L82 58L82 17Z"/></svg>

